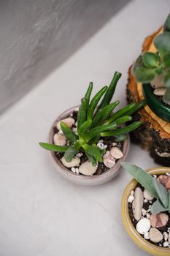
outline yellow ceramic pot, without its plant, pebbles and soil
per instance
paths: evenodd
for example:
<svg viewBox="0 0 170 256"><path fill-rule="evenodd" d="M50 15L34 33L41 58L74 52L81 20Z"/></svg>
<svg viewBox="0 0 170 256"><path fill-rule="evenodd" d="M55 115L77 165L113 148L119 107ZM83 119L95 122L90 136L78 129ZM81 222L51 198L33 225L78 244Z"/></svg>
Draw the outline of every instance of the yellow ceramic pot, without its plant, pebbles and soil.
<svg viewBox="0 0 170 256"><path fill-rule="evenodd" d="M170 173L170 167L155 167L147 170L147 172L151 175L155 174L158 176L161 174ZM150 255L170 256L170 248L163 248L161 246L155 246L154 244L151 244L149 241L142 238L139 233L137 233L133 223L131 222L131 218L128 214L128 197L131 194L131 190L135 189L136 185L137 181L133 179L128 184L128 187L126 187L122 198L121 214L125 230L128 233L128 236L130 236L131 239L134 241L134 243Z"/></svg>

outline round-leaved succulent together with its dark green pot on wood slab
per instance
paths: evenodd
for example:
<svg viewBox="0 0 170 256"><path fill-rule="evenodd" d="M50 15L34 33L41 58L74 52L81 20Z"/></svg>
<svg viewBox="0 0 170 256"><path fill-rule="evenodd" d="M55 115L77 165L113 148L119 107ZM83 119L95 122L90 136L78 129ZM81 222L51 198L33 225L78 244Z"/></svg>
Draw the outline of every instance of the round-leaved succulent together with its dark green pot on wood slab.
<svg viewBox="0 0 170 256"><path fill-rule="evenodd" d="M153 41L156 52L142 53L134 64L134 75L142 83L144 98L150 109L170 121L170 15L163 32Z"/></svg>

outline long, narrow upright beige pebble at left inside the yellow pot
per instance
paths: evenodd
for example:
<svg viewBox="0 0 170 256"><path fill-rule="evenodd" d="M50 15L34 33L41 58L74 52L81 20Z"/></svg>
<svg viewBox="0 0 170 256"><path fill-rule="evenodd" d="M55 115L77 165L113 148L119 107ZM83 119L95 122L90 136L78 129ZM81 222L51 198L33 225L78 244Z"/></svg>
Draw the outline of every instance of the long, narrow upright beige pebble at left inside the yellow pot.
<svg viewBox="0 0 170 256"><path fill-rule="evenodd" d="M136 187L135 192L134 192L134 201L132 203L132 209L133 209L133 214L134 218L139 221L142 217L142 207L143 207L143 192L142 189L139 187Z"/></svg>

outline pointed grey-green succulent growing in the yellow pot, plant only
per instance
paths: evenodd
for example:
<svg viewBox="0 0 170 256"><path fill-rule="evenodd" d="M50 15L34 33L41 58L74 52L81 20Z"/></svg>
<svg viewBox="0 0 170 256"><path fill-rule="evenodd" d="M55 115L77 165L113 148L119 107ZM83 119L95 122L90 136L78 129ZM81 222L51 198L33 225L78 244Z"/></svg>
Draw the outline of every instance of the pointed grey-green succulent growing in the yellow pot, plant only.
<svg viewBox="0 0 170 256"><path fill-rule="evenodd" d="M131 165L128 162L121 162L121 165L131 173L139 184L147 189L150 194L157 200L152 204L152 214L158 214L161 211L170 211L170 192L157 181L157 178L151 176L142 168Z"/></svg>

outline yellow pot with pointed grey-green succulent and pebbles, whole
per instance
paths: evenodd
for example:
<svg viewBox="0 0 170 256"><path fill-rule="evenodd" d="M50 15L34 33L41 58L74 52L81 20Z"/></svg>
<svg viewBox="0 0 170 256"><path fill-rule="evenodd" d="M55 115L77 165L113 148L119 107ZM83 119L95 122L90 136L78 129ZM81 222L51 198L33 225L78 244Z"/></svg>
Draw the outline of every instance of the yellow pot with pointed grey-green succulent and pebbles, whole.
<svg viewBox="0 0 170 256"><path fill-rule="evenodd" d="M150 255L170 255L170 168L121 162L134 176L123 194L121 214L128 235Z"/></svg>

